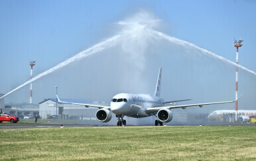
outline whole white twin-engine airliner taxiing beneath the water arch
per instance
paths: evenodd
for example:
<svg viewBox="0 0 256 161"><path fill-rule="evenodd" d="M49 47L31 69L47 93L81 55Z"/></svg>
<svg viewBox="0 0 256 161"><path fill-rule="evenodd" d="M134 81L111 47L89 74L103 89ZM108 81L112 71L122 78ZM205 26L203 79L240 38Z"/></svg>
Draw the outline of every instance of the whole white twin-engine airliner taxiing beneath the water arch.
<svg viewBox="0 0 256 161"><path fill-rule="evenodd" d="M119 93L111 99L111 103L109 106L94 105L94 104L88 104L88 103L66 102L66 101L61 101L58 95L56 95L56 97L60 103L71 103L74 105L84 105L86 107L99 108L99 110L96 112L96 119L101 123L107 123L108 121L110 121L112 117L111 113L114 113L118 119L117 126L126 125L126 121L123 119L123 117L125 116L134 117L134 118L143 118L143 117L151 117L154 115L155 117L157 117L157 120L155 121L155 125L162 126L163 123L168 123L172 120L173 113L171 109L176 109L176 108L186 109L186 107L194 107L194 106L203 107L203 105L214 105L219 103L235 102L235 101L224 101L224 102L214 102L214 103L198 103L198 104L190 104L190 105L176 105L176 104L171 105L171 103L176 103L178 101L188 101L190 99L164 102L164 99L160 97L161 77L162 77L162 68L159 69L159 76L157 79L157 85L155 87L154 95Z"/></svg>

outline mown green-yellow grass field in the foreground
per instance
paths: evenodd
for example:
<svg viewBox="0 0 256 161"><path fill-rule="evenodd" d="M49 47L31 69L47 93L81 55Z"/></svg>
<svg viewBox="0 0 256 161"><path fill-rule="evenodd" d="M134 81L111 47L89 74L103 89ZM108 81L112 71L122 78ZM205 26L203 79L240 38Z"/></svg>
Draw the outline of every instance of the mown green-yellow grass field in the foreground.
<svg viewBox="0 0 256 161"><path fill-rule="evenodd" d="M256 127L1 129L0 160L256 160Z"/></svg>

